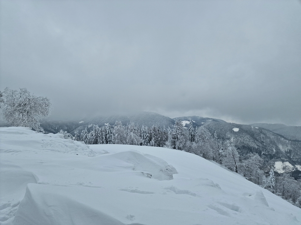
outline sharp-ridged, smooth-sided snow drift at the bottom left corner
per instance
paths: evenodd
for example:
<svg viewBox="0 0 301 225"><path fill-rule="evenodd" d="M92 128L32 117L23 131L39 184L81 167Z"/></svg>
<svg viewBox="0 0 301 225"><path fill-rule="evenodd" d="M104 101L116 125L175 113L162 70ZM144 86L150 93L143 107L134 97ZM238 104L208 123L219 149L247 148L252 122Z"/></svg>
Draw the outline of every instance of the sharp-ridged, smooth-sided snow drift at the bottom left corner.
<svg viewBox="0 0 301 225"><path fill-rule="evenodd" d="M91 205L52 190L51 185L29 184L14 218L14 225L124 224Z"/></svg>

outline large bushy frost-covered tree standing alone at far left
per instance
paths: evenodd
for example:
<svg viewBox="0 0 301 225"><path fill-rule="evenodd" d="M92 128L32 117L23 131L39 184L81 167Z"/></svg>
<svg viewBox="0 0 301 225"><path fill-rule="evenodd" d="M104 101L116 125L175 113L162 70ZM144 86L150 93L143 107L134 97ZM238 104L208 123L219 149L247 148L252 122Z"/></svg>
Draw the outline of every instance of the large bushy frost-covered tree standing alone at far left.
<svg viewBox="0 0 301 225"><path fill-rule="evenodd" d="M0 96L0 109L8 124L44 132L39 120L50 114L48 98L30 95L26 88L20 88L20 91L5 88Z"/></svg>

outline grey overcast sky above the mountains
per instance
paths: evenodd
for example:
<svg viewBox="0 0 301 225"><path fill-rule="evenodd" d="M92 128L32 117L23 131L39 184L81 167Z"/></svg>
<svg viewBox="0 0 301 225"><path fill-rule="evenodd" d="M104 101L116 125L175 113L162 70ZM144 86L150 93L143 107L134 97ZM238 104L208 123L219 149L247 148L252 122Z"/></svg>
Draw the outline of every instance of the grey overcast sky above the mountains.
<svg viewBox="0 0 301 225"><path fill-rule="evenodd" d="M152 111L301 125L300 1L3 1L0 90L57 119Z"/></svg>

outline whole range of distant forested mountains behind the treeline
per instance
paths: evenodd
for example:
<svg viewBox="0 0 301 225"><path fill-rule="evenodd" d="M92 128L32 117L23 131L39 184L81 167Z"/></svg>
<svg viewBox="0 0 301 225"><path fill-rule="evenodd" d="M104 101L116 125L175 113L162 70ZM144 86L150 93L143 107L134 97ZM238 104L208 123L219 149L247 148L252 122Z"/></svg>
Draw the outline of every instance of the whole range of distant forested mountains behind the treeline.
<svg viewBox="0 0 301 225"><path fill-rule="evenodd" d="M241 125L228 123L221 119L185 116L169 118L158 113L140 112L126 116L95 117L92 119L82 119L73 121L45 120L41 126L45 131L57 133L61 129L74 134L81 132L86 127L91 131L93 125L105 126L114 125L116 121L121 121L123 125L134 122L139 126L160 125L161 128L172 127L176 120L181 120L182 124L188 128L189 121L195 127L204 126L211 134L216 132L219 138L234 138L234 144L239 149L240 155L248 153L258 153L267 160L275 159L288 161L293 165L301 165L301 127L286 126L282 124L251 124Z"/></svg>

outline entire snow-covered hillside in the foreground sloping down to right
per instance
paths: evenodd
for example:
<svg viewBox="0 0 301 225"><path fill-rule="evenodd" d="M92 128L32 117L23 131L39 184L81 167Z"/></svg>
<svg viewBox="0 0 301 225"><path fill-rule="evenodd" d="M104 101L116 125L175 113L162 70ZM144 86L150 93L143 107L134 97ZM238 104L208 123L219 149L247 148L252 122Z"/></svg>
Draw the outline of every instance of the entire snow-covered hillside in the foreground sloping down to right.
<svg viewBox="0 0 301 225"><path fill-rule="evenodd" d="M187 152L0 137L0 224L301 224L300 208Z"/></svg>

